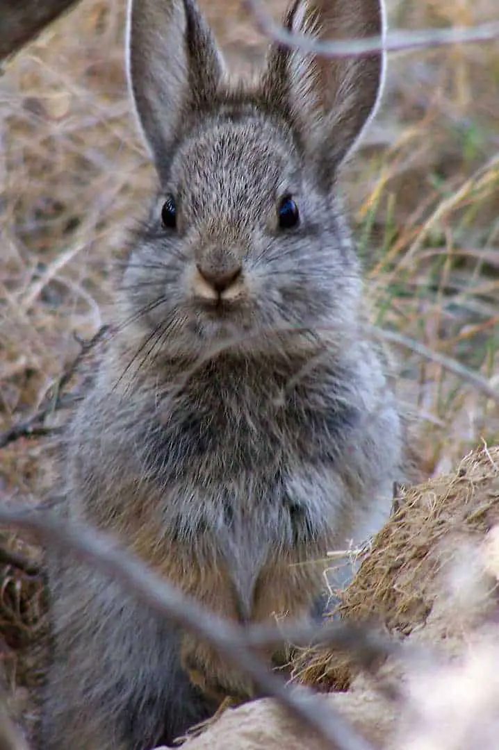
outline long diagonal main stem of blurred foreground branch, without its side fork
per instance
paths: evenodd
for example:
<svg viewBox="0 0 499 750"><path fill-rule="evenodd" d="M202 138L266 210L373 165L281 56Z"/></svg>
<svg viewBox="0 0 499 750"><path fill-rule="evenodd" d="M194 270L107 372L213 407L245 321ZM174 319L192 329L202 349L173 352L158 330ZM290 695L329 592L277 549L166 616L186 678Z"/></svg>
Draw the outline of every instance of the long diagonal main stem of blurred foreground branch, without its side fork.
<svg viewBox="0 0 499 750"><path fill-rule="evenodd" d="M320 696L302 685L288 686L248 648L240 625L207 612L143 565L137 557L119 550L113 541L94 529L71 526L53 513L33 508L0 507L0 523L34 533L41 541L72 553L118 580L137 601L206 640L224 658L236 664L266 695L272 695L336 750L373 750L350 724Z"/></svg>

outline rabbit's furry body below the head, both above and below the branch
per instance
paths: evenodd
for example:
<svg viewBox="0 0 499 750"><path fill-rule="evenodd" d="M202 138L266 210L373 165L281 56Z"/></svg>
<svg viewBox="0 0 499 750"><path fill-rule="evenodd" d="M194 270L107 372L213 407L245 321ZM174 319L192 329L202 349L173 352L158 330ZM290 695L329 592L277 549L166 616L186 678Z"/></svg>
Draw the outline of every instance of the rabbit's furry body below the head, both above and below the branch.
<svg viewBox="0 0 499 750"><path fill-rule="evenodd" d="M164 413L148 378L122 400L104 361L69 443L71 517L118 535L221 615L307 614L326 552L380 527L401 475L392 398L368 348L357 354L357 371L355 360L340 374L326 359L304 375L287 406L282 389L299 363L227 356ZM364 369L370 393L358 387ZM181 645L209 694L251 695L242 675L185 634L181 643L116 583L71 561L51 567L56 651L45 721L71 747L152 747L206 718L216 703L180 671Z"/></svg>

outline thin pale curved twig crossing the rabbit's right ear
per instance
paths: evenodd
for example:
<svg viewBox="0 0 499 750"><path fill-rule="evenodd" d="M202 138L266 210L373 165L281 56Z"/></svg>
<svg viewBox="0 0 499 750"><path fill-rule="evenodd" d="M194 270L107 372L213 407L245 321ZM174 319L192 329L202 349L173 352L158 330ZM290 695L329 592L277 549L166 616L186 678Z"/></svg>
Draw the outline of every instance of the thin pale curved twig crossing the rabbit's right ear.
<svg viewBox="0 0 499 750"><path fill-rule="evenodd" d="M302 49L303 52L324 57L365 57L382 49L386 52L407 52L413 49L492 41L499 38L499 22L491 22L469 27L425 28L417 31L397 29L389 31L384 38L374 36L365 39L322 41L297 31L288 31L272 18L262 0L241 1L252 13L259 31L267 37L292 49Z"/></svg>

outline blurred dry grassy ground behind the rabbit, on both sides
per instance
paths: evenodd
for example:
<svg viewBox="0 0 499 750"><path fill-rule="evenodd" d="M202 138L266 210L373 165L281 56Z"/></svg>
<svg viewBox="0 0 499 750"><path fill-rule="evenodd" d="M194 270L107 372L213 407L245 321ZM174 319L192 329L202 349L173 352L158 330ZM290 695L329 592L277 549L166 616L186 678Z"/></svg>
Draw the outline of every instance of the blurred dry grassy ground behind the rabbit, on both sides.
<svg viewBox="0 0 499 750"><path fill-rule="evenodd" d="M231 61L259 58L239 1L201 5ZM74 334L106 321L113 261L146 207L153 175L125 89L123 6L83 0L0 79L0 432L44 401L77 353ZM499 19L496 0L390 0L389 11L407 28ZM499 440L497 401L469 377L499 386L498 91L497 42L392 55L383 108L344 170L373 321L402 342L398 384L421 419L428 474ZM2 498L49 483L45 439L0 450ZM23 600L26 585L2 578L10 648L36 621L39 589L30 582Z"/></svg>

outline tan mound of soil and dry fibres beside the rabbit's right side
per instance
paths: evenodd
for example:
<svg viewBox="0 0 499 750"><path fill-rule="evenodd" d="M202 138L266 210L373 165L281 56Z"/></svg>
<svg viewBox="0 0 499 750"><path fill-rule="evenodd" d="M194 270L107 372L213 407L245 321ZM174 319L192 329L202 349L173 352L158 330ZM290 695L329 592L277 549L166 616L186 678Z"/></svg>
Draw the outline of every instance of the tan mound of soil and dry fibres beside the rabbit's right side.
<svg viewBox="0 0 499 750"><path fill-rule="evenodd" d="M497 616L497 571L480 581L477 550L498 523L499 448L485 447L467 455L452 474L402 491L332 613L407 636L424 627L447 589L448 634L461 627L463 612L480 610L484 616L491 610ZM299 679L324 691L347 689L358 671L351 658L330 648L303 649L295 658Z"/></svg>

